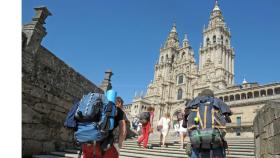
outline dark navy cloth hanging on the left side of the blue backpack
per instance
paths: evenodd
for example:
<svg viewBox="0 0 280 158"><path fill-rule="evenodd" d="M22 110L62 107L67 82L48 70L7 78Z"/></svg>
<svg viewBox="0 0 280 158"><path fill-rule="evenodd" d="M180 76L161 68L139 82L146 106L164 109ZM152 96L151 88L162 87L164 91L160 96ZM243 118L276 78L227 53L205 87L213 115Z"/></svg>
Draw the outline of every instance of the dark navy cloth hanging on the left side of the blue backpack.
<svg viewBox="0 0 280 158"><path fill-rule="evenodd" d="M72 129L76 130L77 121L75 119L75 113L76 113L76 110L78 109L78 106L79 106L79 101L74 101L74 104L73 104L72 108L70 109L70 111L68 112L66 119L64 121L64 127L72 128Z"/></svg>

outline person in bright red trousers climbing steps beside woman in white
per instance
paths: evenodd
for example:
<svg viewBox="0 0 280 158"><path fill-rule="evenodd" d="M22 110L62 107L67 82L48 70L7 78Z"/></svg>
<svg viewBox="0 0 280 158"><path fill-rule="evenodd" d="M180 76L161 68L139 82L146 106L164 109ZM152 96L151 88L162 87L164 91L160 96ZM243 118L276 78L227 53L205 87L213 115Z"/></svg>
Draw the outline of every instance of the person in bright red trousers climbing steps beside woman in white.
<svg viewBox="0 0 280 158"><path fill-rule="evenodd" d="M150 120L146 124L142 125L142 135L138 138L137 141L139 147L143 142L144 149L148 148L149 135L153 132L152 123L154 119L154 108L149 107L147 110L150 113Z"/></svg>

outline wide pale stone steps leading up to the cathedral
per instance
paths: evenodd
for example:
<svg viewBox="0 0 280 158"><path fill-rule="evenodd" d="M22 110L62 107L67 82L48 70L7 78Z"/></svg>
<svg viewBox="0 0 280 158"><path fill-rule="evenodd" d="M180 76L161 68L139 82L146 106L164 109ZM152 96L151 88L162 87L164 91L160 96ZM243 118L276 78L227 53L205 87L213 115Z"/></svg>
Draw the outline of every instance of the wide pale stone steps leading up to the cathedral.
<svg viewBox="0 0 280 158"><path fill-rule="evenodd" d="M188 140L188 138L186 138ZM253 138L232 137L227 138L229 144L228 158L255 158ZM185 145L189 143L188 141ZM185 149L180 149L178 137L169 136L166 140L167 147L159 146L159 137L154 135L149 140L149 146L152 149L139 148L136 138L125 141L123 148L120 150L120 158L188 158ZM33 158L59 158L69 157L77 158L79 150L68 149L60 152L51 152L49 155L34 155Z"/></svg>

